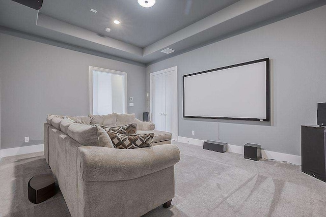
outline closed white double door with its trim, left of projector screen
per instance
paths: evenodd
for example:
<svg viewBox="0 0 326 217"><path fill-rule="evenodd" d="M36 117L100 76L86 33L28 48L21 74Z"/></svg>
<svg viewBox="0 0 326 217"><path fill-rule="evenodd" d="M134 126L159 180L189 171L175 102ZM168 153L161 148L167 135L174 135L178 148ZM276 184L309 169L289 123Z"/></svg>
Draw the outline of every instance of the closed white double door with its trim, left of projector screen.
<svg viewBox="0 0 326 217"><path fill-rule="evenodd" d="M156 130L178 138L177 67L151 73L151 120Z"/></svg>

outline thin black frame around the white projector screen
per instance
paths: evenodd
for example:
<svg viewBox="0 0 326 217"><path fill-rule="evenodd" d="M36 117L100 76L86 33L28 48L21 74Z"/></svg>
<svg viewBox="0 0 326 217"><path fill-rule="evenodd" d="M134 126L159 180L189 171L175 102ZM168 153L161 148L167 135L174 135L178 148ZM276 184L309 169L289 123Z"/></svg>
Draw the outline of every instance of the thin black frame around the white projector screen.
<svg viewBox="0 0 326 217"><path fill-rule="evenodd" d="M266 118L186 116L184 114L184 78L185 77L189 77L189 76L193 76L193 75L199 75L199 74L203 74L203 73L214 72L214 71L219 71L219 70L224 70L224 69L229 69L229 68L234 68L234 67L239 67L239 66L246 66L246 65L261 63L261 62L264 62L264 61L266 62ZM196 72L196 73L183 75L182 76L182 116L184 118L251 120L251 121L267 121L267 122L270 121L270 59L267 57L267 58L252 60L252 61L248 61L248 62L240 63L240 64L235 64L235 65L231 65L231 66L220 67L220 68L210 69L210 70L206 70L206 71L202 71L202 72Z"/></svg>

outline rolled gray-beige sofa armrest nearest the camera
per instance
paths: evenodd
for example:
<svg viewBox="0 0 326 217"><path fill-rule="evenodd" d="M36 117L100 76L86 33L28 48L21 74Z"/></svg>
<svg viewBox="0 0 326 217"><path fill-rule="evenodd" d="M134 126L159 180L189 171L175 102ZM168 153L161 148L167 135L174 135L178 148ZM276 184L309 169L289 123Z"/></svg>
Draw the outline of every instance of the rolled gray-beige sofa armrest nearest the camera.
<svg viewBox="0 0 326 217"><path fill-rule="evenodd" d="M129 180L166 169L179 160L175 145L139 149L84 146L78 147L77 170L83 181Z"/></svg>

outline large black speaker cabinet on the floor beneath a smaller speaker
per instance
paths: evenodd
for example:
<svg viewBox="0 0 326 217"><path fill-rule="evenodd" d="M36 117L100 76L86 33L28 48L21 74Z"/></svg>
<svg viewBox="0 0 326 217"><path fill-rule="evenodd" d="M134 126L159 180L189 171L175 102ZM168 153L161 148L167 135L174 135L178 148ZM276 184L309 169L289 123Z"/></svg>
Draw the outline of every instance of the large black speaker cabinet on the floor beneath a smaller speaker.
<svg viewBox="0 0 326 217"><path fill-rule="evenodd" d="M301 171L326 182L324 130L301 126Z"/></svg>

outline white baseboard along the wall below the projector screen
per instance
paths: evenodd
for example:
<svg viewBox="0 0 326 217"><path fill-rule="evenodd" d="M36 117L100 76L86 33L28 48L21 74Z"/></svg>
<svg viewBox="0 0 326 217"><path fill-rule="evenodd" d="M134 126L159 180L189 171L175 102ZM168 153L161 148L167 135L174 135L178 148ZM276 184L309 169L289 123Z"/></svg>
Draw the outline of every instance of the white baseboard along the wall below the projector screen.
<svg viewBox="0 0 326 217"><path fill-rule="evenodd" d="M187 138L187 137L181 137L181 136L178 137L178 142L199 145L202 147L203 147L204 141L205 140L193 139L193 138ZM232 152L232 153L243 154L243 146L228 144L228 151ZM267 150L262 150L261 154L262 154L262 157L265 159L275 159L277 161L287 161L292 164L301 165L301 156L287 154L287 153L280 153L280 152L275 152L275 151L267 151Z"/></svg>

